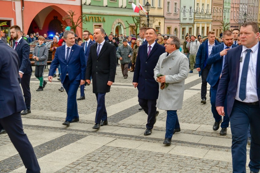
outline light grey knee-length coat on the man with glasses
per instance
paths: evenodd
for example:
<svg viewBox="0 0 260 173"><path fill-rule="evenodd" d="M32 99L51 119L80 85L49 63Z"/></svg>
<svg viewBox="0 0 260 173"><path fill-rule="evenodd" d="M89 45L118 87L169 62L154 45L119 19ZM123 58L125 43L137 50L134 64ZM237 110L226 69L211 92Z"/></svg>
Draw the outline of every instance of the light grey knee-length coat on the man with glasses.
<svg viewBox="0 0 260 173"><path fill-rule="evenodd" d="M178 110L182 108L184 81L188 77L188 72L188 58L179 49L173 51L169 56L167 56L167 52L160 56L154 68L154 79L157 81L156 75L159 73L166 75L165 81L169 83L169 86L161 90L161 83L158 83L157 108L162 110Z"/></svg>

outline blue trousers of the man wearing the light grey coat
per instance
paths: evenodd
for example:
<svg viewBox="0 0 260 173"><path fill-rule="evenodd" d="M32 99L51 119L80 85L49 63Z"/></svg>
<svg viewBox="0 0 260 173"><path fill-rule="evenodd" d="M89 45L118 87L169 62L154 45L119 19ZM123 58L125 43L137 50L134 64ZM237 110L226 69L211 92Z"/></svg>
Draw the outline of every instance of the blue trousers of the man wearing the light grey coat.
<svg viewBox="0 0 260 173"><path fill-rule="evenodd" d="M179 124L177 111L167 111L165 138L172 139L174 129L179 129L179 128L180 128L180 124Z"/></svg>

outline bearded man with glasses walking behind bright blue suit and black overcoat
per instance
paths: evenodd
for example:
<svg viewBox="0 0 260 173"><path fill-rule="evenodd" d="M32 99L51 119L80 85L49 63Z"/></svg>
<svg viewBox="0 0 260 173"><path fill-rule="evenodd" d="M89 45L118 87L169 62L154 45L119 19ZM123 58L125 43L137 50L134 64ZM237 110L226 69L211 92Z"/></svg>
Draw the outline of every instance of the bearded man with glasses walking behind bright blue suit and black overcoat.
<svg viewBox="0 0 260 173"><path fill-rule="evenodd" d="M90 34L90 32L88 30L83 31L83 39L85 40L85 42L81 44L81 46L84 48L86 63L88 62L88 54L90 51L90 46L95 43L94 41L92 41L89 38L89 34ZM86 85L87 85L87 82L85 82L84 85L80 86L80 97L77 98L77 100L85 100L84 88Z"/></svg>

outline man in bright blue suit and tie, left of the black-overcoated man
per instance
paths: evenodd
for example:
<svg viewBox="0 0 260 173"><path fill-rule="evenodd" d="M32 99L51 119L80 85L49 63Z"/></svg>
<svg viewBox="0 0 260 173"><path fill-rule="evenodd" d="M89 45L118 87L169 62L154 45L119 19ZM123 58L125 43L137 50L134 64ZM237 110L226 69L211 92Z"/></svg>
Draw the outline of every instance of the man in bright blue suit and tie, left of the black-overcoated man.
<svg viewBox="0 0 260 173"><path fill-rule="evenodd" d="M73 31L65 31L63 38L66 44L57 48L48 79L52 82L53 74L60 64L61 83L68 95L67 117L63 125L70 126L70 122L79 121L76 97L78 86L85 83L86 58L84 48L75 44Z"/></svg>

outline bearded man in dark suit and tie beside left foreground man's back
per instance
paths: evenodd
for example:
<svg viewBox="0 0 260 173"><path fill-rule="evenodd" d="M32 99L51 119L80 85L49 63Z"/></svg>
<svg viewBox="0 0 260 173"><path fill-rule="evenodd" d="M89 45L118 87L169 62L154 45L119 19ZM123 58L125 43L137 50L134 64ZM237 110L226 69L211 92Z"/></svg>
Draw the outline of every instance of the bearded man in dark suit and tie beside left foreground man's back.
<svg viewBox="0 0 260 173"><path fill-rule="evenodd" d="M23 89L23 97L26 105L26 109L21 112L21 115L27 115L31 113L31 91L30 91L30 79L32 75L32 66L29 59L30 46L21 35L21 28L17 25L10 27L11 37L15 41L13 44L14 50L19 56L19 75L21 78L21 86Z"/></svg>

